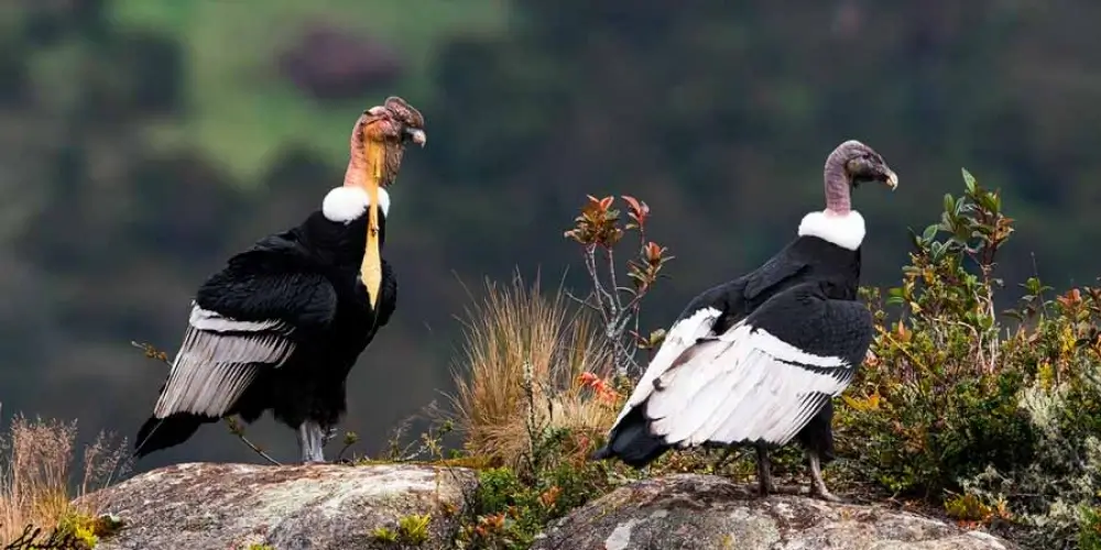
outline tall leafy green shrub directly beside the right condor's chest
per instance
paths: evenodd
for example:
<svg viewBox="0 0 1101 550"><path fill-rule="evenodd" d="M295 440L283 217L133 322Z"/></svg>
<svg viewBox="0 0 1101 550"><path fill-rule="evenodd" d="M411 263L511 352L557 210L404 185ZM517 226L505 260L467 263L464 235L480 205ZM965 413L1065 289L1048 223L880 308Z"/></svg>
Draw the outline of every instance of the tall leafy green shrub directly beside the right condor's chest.
<svg viewBox="0 0 1101 550"><path fill-rule="evenodd" d="M1033 452L1017 407L1031 366L1002 340L993 306L994 260L1012 231L1000 207L972 179L962 197L945 197L941 222L913 235L903 284L889 290L897 319L865 290L877 336L843 398L844 439L892 492L940 495L986 464L1024 463Z"/></svg>

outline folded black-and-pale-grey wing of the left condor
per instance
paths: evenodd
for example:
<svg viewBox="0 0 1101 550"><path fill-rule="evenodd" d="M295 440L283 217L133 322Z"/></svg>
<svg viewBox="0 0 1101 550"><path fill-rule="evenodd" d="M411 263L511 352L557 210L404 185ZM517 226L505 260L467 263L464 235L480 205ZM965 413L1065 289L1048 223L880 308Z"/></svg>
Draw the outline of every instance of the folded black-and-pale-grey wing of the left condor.
<svg viewBox="0 0 1101 550"><path fill-rule="evenodd" d="M225 415L264 369L331 321L336 292L286 237L233 256L199 289L156 418Z"/></svg>

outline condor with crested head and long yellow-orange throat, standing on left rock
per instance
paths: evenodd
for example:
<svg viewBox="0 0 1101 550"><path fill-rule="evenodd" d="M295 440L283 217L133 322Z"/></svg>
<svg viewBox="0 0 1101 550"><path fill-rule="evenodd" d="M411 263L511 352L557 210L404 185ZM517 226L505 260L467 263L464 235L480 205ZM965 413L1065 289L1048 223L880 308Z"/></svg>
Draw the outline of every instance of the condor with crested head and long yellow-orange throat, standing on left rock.
<svg viewBox="0 0 1101 550"><path fill-rule="evenodd" d="M297 430L303 462L325 460L346 410L345 380L396 305L397 280L381 257L390 211L382 187L410 142L424 146L424 118L403 99L364 111L344 186L199 287L153 416L138 431L139 458L205 422L252 422L270 409Z"/></svg>

